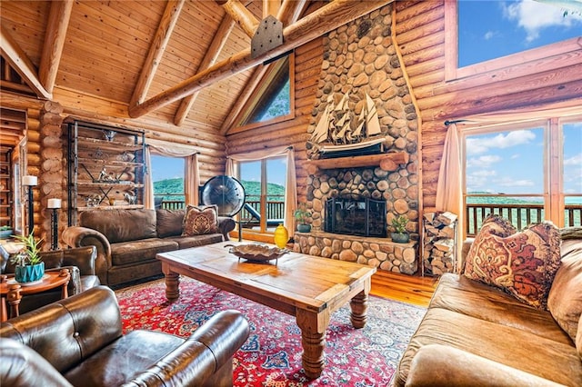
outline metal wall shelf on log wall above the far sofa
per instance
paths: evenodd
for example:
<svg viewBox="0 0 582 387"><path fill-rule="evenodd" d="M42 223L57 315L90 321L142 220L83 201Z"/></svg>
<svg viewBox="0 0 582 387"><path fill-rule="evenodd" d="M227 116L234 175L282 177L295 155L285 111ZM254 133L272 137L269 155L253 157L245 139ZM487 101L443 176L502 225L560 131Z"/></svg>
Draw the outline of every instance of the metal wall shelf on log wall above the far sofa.
<svg viewBox="0 0 582 387"><path fill-rule="evenodd" d="M87 210L144 208L143 132L73 122L69 134L69 224Z"/></svg>

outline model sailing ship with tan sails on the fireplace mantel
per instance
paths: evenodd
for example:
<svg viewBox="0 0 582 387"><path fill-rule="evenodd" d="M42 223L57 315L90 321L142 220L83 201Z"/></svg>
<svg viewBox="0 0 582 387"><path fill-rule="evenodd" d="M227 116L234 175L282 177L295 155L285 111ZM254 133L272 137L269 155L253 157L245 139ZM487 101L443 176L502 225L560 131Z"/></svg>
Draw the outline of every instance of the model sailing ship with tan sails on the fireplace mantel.
<svg viewBox="0 0 582 387"><path fill-rule="evenodd" d="M353 154L384 152L386 135L380 130L376 105L366 93L366 103L357 116L348 106L349 94L334 104L334 95L327 97L327 105L316 128L307 141L309 158L343 157Z"/></svg>

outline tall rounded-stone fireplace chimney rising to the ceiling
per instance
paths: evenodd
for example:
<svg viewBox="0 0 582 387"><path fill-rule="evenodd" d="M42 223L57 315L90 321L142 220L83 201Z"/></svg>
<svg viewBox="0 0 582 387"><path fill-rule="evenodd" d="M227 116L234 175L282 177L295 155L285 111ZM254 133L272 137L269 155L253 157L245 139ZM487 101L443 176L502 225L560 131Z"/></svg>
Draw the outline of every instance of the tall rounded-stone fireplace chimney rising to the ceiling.
<svg viewBox="0 0 582 387"><path fill-rule="evenodd" d="M314 173L309 174L306 193L307 205L313 210L312 225L316 233L323 231L324 228L326 200L330 197L351 196L386 201L388 233L392 219L398 215L406 215L409 220L407 230L413 240L418 239L418 124L416 109L396 55L396 47L392 42L391 11L392 5L386 5L327 35L324 40L324 60L316 92L316 103L307 132L313 134L326 110L326 104L331 100L330 95L336 101L342 95L348 94L349 108L353 109L355 114L360 114L367 94L376 105L381 134L386 137L384 152L405 153L406 162L392 163L392 167L388 168L386 165L382 168L379 163L352 164L351 161L357 158L356 155L349 157L350 166L347 167L326 166L315 168L315 172L312 169L311 172ZM308 148L309 146L310 144L307 144ZM313 161L311 163L315 164ZM367 243L366 237L359 237L366 245L378 246L378 238L374 239L375 241ZM385 239L390 243L389 238ZM325 238L323 241L325 242ZM305 241L302 243L305 244ZM305 247L303 246L302 250L311 253L325 251L325 243L316 246L315 249L309 246L303 249ZM416 242L413 248L416 249ZM329 251L331 250L333 249L330 246ZM414 252L415 256L411 257L408 251L406 260L403 260L402 256L390 258L389 253L386 257L386 252L390 250L387 247L377 249L378 252L372 249L366 253L365 250L345 255L350 259L356 257L357 262L374 264L388 271L416 272ZM329 256L332 258L339 256L336 259L343 259L340 253L336 255L329 253Z"/></svg>

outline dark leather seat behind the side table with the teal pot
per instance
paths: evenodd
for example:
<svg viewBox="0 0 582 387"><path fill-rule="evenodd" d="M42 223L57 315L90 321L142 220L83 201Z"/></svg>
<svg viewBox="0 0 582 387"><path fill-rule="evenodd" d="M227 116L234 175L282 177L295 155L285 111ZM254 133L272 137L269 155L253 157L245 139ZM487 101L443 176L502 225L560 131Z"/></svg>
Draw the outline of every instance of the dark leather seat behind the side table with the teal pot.
<svg viewBox="0 0 582 387"><path fill-rule="evenodd" d="M95 259L97 249L95 246L78 247L68 250L57 250L40 253L45 263L45 271L59 271L68 269L71 280L68 284L68 294L75 295L87 289L98 286L99 277L95 274ZM0 273L15 273L14 264L10 263L7 256L2 257ZM61 289L56 288L43 293L26 294L18 305L19 313L34 311L48 303L54 303L61 299Z"/></svg>

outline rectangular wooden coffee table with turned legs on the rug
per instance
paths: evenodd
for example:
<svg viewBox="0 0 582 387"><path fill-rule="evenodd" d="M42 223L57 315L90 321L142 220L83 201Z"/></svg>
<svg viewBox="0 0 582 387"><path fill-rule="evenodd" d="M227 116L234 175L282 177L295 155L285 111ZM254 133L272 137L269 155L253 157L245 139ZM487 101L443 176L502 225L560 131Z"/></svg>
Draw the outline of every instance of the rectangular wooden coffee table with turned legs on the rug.
<svg viewBox="0 0 582 387"><path fill-rule="evenodd" d="M166 297L179 296L179 274L236 293L296 317L306 376L324 369L326 328L331 314L349 302L351 323L366 325L367 295L376 268L302 253L286 253L268 263L249 263L229 253L233 241L159 253L166 274Z"/></svg>

